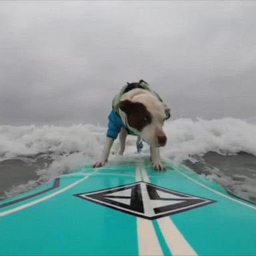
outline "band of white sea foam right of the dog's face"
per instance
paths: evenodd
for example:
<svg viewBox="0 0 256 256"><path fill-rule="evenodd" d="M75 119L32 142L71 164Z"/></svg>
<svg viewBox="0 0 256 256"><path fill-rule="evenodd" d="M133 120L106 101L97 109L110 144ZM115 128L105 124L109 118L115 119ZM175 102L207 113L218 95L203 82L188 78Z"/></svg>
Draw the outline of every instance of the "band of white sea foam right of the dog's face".
<svg viewBox="0 0 256 256"><path fill-rule="evenodd" d="M167 124L168 145L163 157L174 164L203 155L208 151L235 154L239 151L256 155L256 125L240 119L177 119Z"/></svg>

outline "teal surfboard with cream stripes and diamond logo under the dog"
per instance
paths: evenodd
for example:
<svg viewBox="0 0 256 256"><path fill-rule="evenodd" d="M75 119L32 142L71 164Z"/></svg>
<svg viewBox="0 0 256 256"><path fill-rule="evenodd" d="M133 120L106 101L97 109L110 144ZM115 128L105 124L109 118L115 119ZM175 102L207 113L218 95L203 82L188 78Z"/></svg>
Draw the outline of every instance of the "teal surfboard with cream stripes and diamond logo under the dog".
<svg viewBox="0 0 256 256"><path fill-rule="evenodd" d="M256 255L256 206L187 167L82 167L0 202L0 255Z"/></svg>

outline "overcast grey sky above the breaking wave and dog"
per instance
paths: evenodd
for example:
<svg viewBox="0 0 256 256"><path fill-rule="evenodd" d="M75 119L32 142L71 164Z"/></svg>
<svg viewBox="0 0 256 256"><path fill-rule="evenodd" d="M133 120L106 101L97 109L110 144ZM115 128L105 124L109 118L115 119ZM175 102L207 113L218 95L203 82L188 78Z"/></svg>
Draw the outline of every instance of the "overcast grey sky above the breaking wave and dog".
<svg viewBox="0 0 256 256"><path fill-rule="evenodd" d="M144 79L173 119L256 113L255 1L0 1L0 125L107 125Z"/></svg>

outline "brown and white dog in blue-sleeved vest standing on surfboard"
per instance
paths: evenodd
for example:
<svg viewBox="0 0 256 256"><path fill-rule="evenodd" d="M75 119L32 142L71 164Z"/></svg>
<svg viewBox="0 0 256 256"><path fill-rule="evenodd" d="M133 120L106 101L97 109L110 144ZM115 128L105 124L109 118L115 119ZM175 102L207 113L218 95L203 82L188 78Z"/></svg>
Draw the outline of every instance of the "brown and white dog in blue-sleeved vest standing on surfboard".
<svg viewBox="0 0 256 256"><path fill-rule="evenodd" d="M159 95L141 80L139 83L127 83L113 99L113 109L109 115L107 140L101 158L93 167L102 167L107 163L113 141L119 134L120 151L125 151L127 134L137 135L150 146L152 166L155 170L165 170L161 162L159 147L166 144L167 137L163 124L169 119L170 109Z"/></svg>

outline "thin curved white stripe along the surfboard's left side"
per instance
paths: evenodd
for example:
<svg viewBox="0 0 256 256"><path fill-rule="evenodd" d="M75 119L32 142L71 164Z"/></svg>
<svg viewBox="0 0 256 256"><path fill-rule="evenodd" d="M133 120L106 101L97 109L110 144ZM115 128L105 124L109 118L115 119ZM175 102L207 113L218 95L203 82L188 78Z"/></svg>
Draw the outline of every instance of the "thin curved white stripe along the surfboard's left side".
<svg viewBox="0 0 256 256"><path fill-rule="evenodd" d="M47 195L45 197L42 197L40 199L37 199L35 201L32 201L30 203L26 203L25 205L21 205L19 207L16 207L16 208L13 208L13 209L10 209L10 210L7 210L7 211L3 211L2 213L0 213L0 217L3 217L3 216L6 216L6 215L9 215L11 213L15 213L17 211L21 211L23 209L26 209L28 207L31 207L33 205L37 205L37 203L41 203L43 201L46 201L52 197L55 197L56 195L59 195L65 191L67 191L68 189L71 189L71 187L75 187L75 185L85 181L85 179L88 179L91 175L94 175L95 173L97 173L98 170L94 171L93 173L91 173L90 175L86 175L85 177L83 177L83 179L79 179L79 181L76 181L74 183L71 183L70 185L68 185L67 187L64 187L63 189L60 189L59 191L56 191L55 193L51 193L50 195Z"/></svg>

